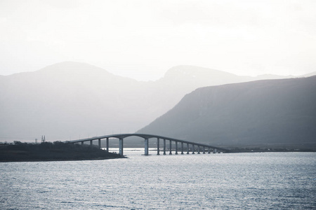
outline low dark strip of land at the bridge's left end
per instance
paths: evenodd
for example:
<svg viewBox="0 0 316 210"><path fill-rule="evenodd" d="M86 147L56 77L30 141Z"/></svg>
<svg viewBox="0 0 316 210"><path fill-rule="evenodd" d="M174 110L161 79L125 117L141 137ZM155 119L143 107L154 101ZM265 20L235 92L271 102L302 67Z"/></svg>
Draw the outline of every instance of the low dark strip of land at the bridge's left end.
<svg viewBox="0 0 316 210"><path fill-rule="evenodd" d="M96 146L65 144L60 141L27 144L0 145L0 162L61 161L61 160L105 160L125 158L116 153L108 153Z"/></svg>

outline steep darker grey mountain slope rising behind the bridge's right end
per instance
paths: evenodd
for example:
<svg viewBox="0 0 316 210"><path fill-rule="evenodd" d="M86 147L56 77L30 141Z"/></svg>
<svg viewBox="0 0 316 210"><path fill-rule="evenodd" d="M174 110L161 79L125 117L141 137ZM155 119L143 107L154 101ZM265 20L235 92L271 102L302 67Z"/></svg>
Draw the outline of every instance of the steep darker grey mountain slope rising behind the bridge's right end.
<svg viewBox="0 0 316 210"><path fill-rule="evenodd" d="M138 133L213 146L316 146L316 76L199 88Z"/></svg>

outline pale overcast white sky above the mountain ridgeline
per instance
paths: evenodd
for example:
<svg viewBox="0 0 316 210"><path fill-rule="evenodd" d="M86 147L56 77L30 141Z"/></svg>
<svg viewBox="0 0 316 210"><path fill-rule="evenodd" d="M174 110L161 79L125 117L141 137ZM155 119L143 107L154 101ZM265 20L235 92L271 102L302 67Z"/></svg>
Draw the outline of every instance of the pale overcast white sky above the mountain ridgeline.
<svg viewBox="0 0 316 210"><path fill-rule="evenodd" d="M173 66L316 71L313 0L0 0L0 75L85 62L157 80Z"/></svg>

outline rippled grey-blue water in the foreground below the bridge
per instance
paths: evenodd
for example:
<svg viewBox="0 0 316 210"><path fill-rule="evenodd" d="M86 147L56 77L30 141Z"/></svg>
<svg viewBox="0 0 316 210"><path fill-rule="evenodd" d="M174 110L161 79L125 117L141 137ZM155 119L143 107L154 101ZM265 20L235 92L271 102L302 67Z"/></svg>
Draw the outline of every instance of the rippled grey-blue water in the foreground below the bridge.
<svg viewBox="0 0 316 210"><path fill-rule="evenodd" d="M125 154L0 163L0 209L316 209L316 153Z"/></svg>

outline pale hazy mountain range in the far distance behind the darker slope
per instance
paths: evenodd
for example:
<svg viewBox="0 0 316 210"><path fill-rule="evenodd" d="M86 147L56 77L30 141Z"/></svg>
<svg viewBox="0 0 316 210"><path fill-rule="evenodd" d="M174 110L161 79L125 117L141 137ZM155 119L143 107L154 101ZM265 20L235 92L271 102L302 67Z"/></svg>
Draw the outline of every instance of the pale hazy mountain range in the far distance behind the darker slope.
<svg viewBox="0 0 316 210"><path fill-rule="evenodd" d="M176 66L156 81L115 76L90 64L62 62L0 76L0 140L69 140L135 132L197 87L282 76L237 76Z"/></svg>

